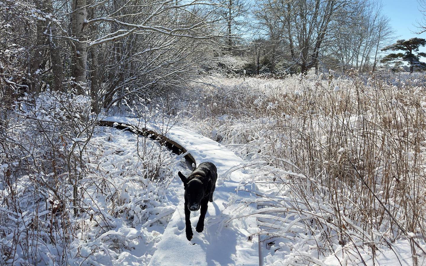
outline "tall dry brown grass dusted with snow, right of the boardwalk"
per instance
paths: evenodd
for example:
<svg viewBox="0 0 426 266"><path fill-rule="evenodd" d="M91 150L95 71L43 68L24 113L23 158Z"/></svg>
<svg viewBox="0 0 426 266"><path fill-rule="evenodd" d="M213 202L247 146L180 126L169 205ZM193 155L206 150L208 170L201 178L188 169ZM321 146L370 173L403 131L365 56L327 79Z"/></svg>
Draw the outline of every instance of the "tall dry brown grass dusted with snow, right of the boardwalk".
<svg viewBox="0 0 426 266"><path fill-rule="evenodd" d="M414 265L422 263L423 78L386 80L351 71L343 78L213 83L200 89L201 98L190 99L191 118L181 123L253 161L258 186L268 192L257 200L268 208L254 215L262 221L263 239L294 255L284 264L321 264L318 258L339 250L341 263L371 263L399 239L409 241ZM316 251L305 250L306 243L278 245L289 233L308 234Z"/></svg>

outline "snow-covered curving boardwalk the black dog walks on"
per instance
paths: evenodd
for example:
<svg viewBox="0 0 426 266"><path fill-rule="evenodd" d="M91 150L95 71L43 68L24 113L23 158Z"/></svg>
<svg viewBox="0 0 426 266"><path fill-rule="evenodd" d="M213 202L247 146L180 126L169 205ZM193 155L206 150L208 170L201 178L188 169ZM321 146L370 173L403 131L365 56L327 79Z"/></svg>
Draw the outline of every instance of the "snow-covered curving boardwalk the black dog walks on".
<svg viewBox="0 0 426 266"><path fill-rule="evenodd" d="M179 126L147 125L128 117L107 117L103 121L145 127L163 134L187 149L197 165L210 161L218 169L219 178L214 201L208 205L204 231L195 231L199 212L191 212L194 237L191 241L186 239L182 197L161 241L157 244L150 265L259 265L257 237L250 237L249 240L249 236L258 231L256 218L230 220L256 209L253 204L243 205L242 208L242 203L236 202L237 198L251 197L243 187L251 188L254 184L249 176L244 174L244 170L237 169L225 178L225 172L229 169L244 164L241 158L216 141Z"/></svg>

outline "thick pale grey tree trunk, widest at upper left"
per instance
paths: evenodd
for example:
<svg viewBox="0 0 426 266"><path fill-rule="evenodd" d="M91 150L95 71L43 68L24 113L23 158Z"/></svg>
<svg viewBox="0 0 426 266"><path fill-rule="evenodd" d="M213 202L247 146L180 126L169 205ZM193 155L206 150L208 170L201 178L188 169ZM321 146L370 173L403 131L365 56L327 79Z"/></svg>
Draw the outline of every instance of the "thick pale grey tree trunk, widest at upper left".
<svg viewBox="0 0 426 266"><path fill-rule="evenodd" d="M72 0L72 34L79 41L74 42L72 56L72 76L77 94L83 94L86 83L87 44L85 22L87 20L87 0Z"/></svg>

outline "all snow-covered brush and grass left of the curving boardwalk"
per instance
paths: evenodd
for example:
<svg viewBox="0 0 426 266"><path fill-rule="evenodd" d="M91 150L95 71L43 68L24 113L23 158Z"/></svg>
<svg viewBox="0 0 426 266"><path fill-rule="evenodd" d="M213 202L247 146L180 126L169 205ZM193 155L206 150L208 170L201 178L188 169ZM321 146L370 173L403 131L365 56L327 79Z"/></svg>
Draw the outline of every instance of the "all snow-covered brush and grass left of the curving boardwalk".
<svg viewBox="0 0 426 266"><path fill-rule="evenodd" d="M86 97L43 92L1 109L0 264L110 265L159 241L147 227L174 211L164 193L180 159L97 126L90 108Z"/></svg>

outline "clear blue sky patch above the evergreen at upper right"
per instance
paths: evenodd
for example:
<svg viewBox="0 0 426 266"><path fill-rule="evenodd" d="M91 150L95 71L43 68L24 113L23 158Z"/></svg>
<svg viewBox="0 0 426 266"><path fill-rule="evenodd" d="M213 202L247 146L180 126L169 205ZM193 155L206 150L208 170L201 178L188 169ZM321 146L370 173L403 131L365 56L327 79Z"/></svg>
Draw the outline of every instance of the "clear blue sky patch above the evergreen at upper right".
<svg viewBox="0 0 426 266"><path fill-rule="evenodd" d="M420 21L423 17L419 11L417 0L382 0L382 3L383 13L389 17L391 26L395 30L395 40L412 37L426 39L426 32L420 35L412 33L412 31L417 31L416 20ZM420 47L420 51L426 52L426 48Z"/></svg>

